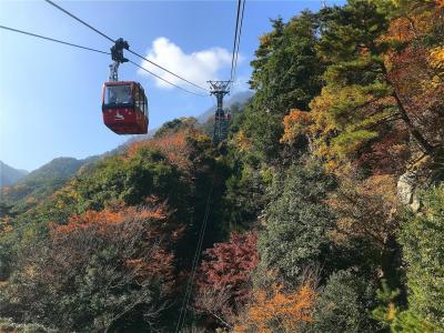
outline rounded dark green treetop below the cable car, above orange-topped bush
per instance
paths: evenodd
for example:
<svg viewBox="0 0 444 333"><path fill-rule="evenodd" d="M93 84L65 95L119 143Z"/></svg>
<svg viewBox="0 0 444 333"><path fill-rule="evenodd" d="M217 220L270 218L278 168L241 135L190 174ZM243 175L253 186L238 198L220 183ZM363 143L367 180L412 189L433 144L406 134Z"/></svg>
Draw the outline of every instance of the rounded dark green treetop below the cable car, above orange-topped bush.
<svg viewBox="0 0 444 333"><path fill-rule="evenodd" d="M140 148L129 158L105 158L92 172L79 178L75 191L83 211L103 209L107 202L117 199L140 204L149 195L168 198L175 208L184 205L181 171L162 152L150 147Z"/></svg>

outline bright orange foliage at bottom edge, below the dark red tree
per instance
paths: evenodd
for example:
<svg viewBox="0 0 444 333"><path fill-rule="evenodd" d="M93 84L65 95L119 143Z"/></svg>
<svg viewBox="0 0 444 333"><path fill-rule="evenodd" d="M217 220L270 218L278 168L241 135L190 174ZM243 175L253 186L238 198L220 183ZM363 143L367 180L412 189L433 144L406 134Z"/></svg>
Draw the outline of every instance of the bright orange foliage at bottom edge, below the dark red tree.
<svg viewBox="0 0 444 333"><path fill-rule="evenodd" d="M253 293L253 300L234 332L296 332L302 323L313 322L316 300L313 282L291 292L284 292L282 285L274 285L271 292L259 290Z"/></svg>

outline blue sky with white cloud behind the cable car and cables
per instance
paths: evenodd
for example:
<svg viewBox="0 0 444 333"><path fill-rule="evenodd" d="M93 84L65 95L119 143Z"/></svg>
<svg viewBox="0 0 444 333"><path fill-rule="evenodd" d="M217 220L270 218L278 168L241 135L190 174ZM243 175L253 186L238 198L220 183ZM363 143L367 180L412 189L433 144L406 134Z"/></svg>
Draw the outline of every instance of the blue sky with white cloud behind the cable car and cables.
<svg viewBox="0 0 444 333"><path fill-rule="evenodd" d="M57 2L192 81L229 78L226 57L233 42L234 1ZM269 19L281 16L287 20L303 9L317 10L321 2L246 1L238 90L246 87L249 62L259 37L270 30ZM0 24L105 51L111 47L43 1L0 0ZM0 160L31 171L57 157L82 159L128 140L102 124L101 88L110 63L107 56L3 30L0 46ZM140 59L127 56L142 64ZM161 85L132 64L123 64L119 74L145 88L150 128L178 117L199 115L214 104L209 97Z"/></svg>

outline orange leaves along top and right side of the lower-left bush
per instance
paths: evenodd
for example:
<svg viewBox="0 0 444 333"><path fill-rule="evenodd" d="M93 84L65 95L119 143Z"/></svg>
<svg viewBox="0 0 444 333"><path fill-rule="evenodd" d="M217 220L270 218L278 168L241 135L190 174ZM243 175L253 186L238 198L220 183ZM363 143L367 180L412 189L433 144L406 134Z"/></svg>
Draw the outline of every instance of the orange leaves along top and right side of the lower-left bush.
<svg viewBox="0 0 444 333"><path fill-rule="evenodd" d="M82 234L104 239L121 239L123 242L134 241L134 232L140 231L140 240L157 244L149 253L149 256L130 256L123 259L124 266L134 273L134 278L149 279L155 275L162 276L165 281L171 280L171 264L173 255L165 251L161 244L164 242L164 221L168 212L162 205L149 208L124 206L118 202L103 211L88 211L82 215L73 215L65 225L51 225L51 235L56 246L70 246L72 239L81 238ZM129 223L131 221L131 223ZM144 225L148 223L151 225ZM139 223L139 225L133 225ZM171 231L174 224L168 225ZM119 238L115 233L120 233ZM169 241L178 239L180 229L172 231L168 236ZM127 240L127 241L125 241ZM141 244L142 245L142 244ZM141 248L142 250L143 248ZM68 249L67 249L68 250ZM71 251L85 251L87 249L71 249ZM71 252L72 254L72 252ZM137 274L135 274L137 272Z"/></svg>

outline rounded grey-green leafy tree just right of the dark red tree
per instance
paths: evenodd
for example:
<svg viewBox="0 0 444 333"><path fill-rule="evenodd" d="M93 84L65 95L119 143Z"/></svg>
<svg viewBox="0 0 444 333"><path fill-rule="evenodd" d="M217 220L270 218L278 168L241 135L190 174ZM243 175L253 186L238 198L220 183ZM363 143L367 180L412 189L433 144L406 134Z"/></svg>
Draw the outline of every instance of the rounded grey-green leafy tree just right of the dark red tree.
<svg viewBox="0 0 444 333"><path fill-rule="evenodd" d="M334 180L314 162L293 165L286 178L276 180L273 199L264 211L259 234L260 268L284 281L295 281L304 266L322 262L334 218L324 203Z"/></svg>

